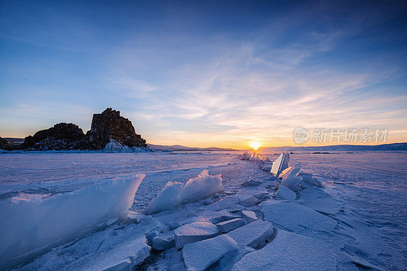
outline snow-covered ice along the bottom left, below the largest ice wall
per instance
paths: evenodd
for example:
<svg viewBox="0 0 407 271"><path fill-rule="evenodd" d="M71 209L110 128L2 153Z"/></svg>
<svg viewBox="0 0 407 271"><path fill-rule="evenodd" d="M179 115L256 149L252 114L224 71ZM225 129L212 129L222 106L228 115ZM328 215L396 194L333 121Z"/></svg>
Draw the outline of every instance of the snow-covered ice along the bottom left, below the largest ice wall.
<svg viewBox="0 0 407 271"><path fill-rule="evenodd" d="M161 228L153 218L105 230L62 245L21 270L130 270L150 254L146 232Z"/></svg>

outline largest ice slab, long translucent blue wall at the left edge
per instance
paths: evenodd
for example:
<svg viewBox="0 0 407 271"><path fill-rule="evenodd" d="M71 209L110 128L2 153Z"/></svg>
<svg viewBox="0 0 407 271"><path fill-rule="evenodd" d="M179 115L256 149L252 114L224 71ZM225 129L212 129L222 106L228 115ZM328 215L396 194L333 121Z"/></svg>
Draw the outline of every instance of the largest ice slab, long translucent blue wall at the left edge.
<svg viewBox="0 0 407 271"><path fill-rule="evenodd" d="M66 194L0 202L0 269L125 218L144 178L112 178Z"/></svg>

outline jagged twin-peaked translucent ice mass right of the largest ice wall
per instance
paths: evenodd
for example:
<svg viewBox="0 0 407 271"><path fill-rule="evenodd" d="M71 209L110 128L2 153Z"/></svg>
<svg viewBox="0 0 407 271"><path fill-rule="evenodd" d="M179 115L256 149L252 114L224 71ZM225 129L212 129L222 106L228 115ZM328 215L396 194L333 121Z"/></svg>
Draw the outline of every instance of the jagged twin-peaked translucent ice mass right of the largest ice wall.
<svg viewBox="0 0 407 271"><path fill-rule="evenodd" d="M205 199L220 191L223 191L220 174L212 176L208 174L208 169L205 169L197 177L190 178L185 186L182 183L168 182L144 209L144 213L159 213L179 204Z"/></svg>

